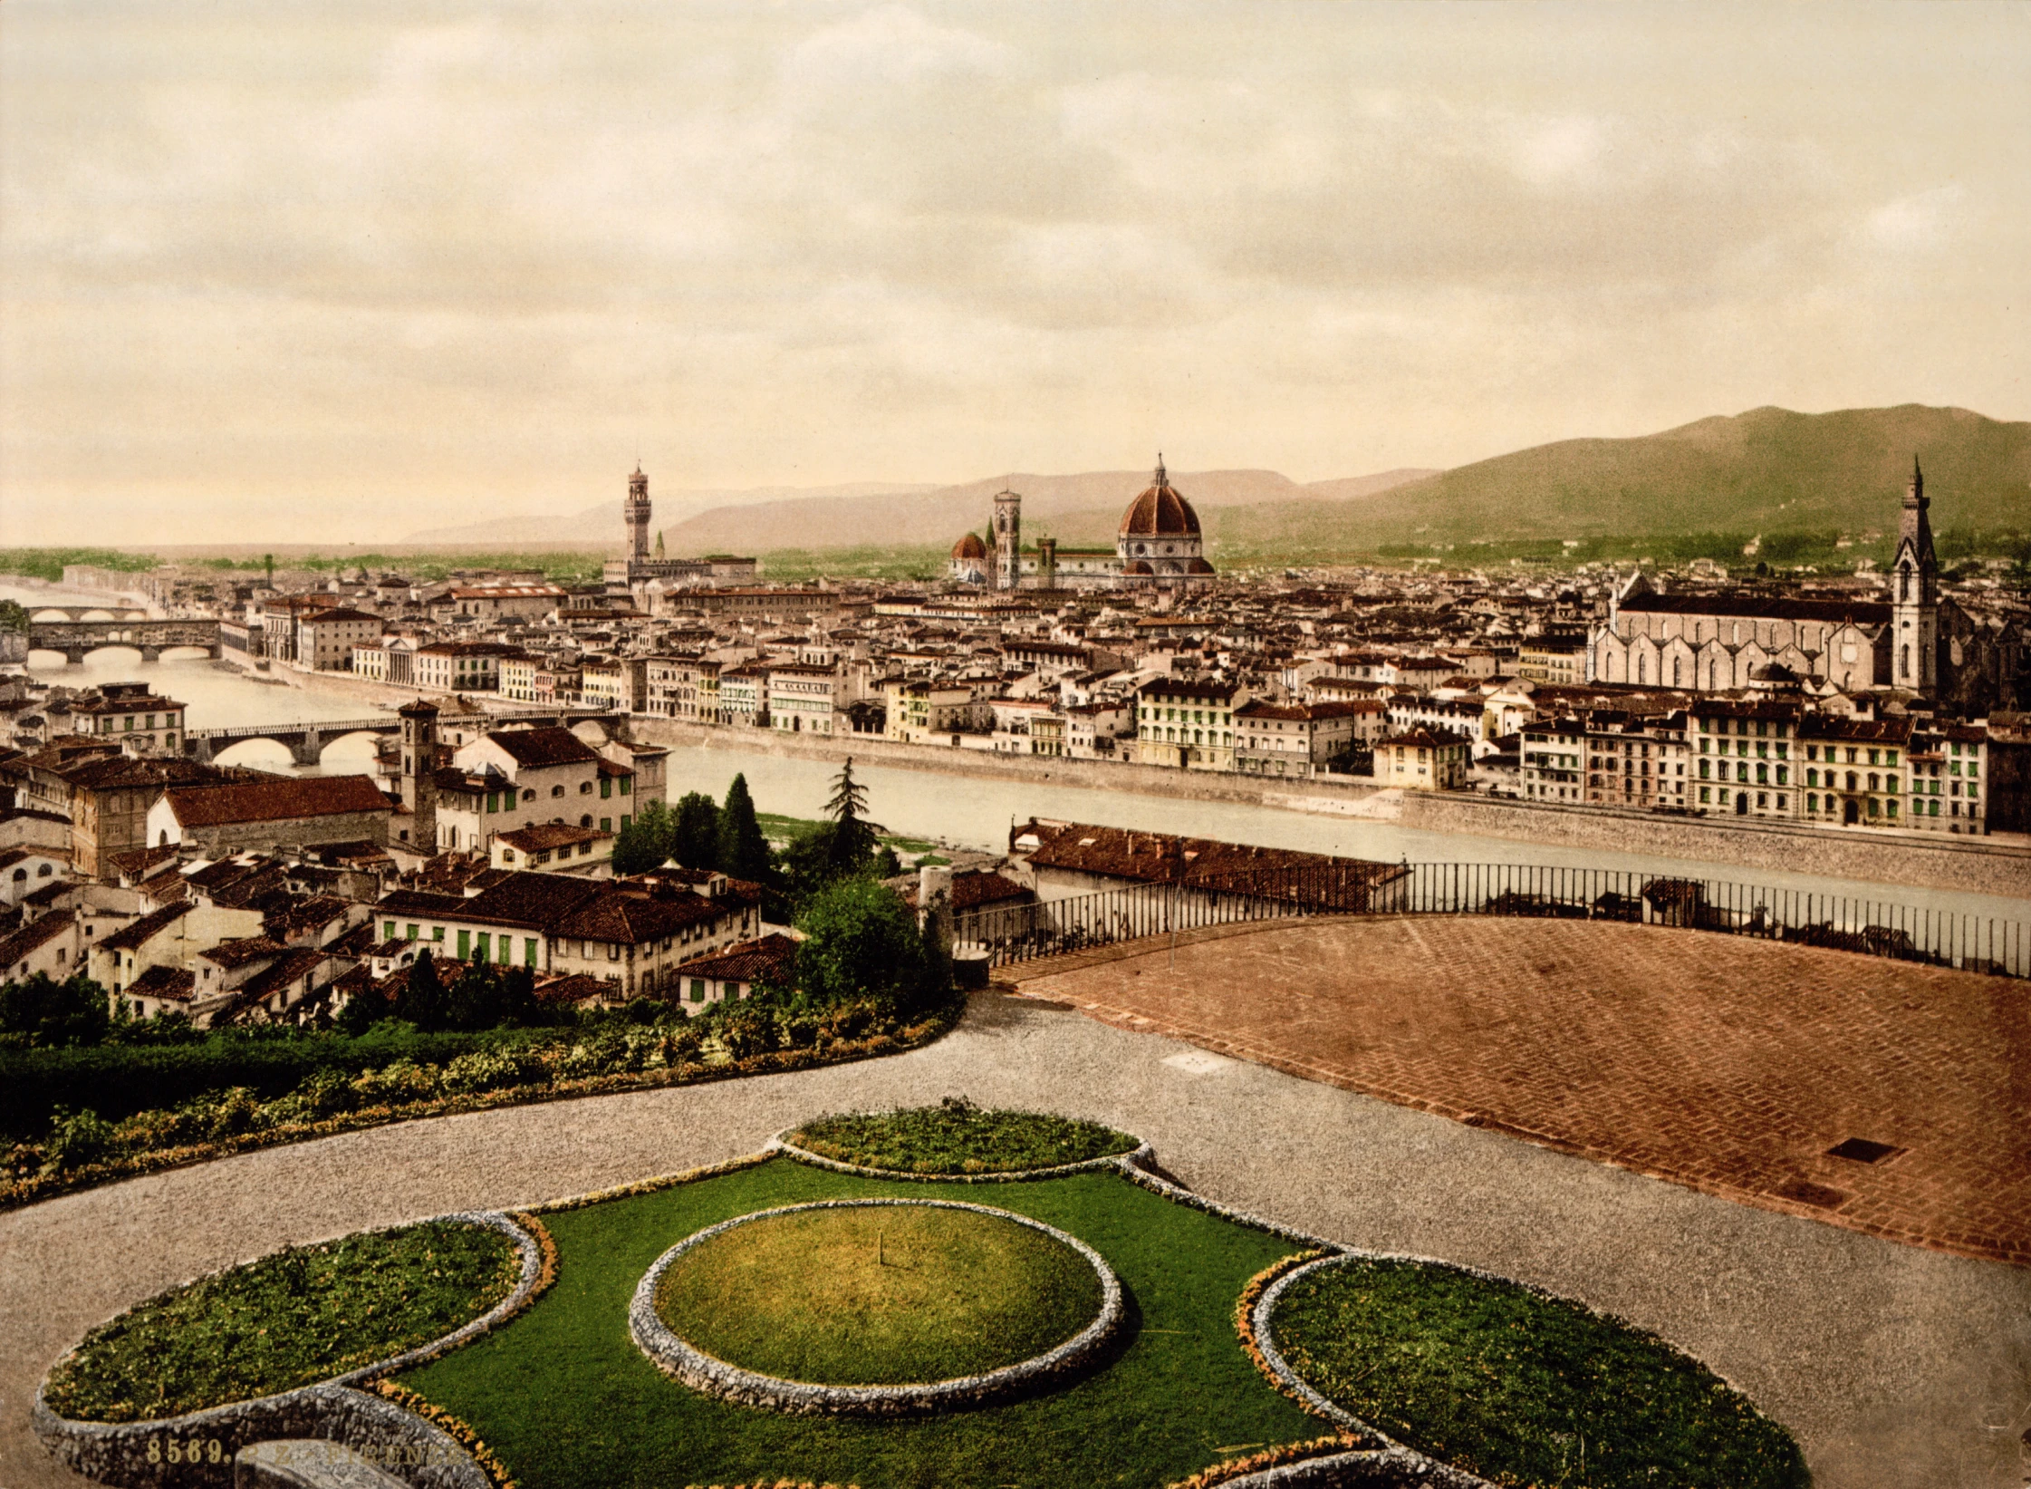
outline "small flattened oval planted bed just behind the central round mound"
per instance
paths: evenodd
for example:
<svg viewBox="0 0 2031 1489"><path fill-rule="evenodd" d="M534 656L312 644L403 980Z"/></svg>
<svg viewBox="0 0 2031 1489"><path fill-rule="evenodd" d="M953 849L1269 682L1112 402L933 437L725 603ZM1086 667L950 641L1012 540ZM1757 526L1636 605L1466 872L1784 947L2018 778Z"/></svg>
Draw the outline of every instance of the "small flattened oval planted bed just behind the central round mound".
<svg viewBox="0 0 2031 1489"><path fill-rule="evenodd" d="M1078 1117L975 1107L948 1099L938 1107L853 1111L806 1121L788 1140L804 1152L904 1174L1013 1174L1125 1154L1125 1131Z"/></svg>

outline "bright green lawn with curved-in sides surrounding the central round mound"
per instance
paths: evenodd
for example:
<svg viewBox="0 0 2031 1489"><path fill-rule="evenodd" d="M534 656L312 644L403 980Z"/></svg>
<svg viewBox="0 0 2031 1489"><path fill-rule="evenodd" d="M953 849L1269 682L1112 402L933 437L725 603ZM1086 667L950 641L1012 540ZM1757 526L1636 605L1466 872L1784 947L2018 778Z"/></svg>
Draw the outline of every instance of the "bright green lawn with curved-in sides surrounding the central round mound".
<svg viewBox="0 0 2031 1489"><path fill-rule="evenodd" d="M556 1284L510 1326L402 1383L463 1418L524 1489L796 1481L861 1489L1152 1489L1257 1448L1316 1438L1233 1329L1247 1280L1294 1247L1113 1172L967 1188L1095 1247L1129 1306L1119 1357L1052 1394L873 1422L719 1402L662 1375L628 1335L642 1274L719 1221L818 1199L926 1194L778 1158L650 1194L548 1215Z"/></svg>

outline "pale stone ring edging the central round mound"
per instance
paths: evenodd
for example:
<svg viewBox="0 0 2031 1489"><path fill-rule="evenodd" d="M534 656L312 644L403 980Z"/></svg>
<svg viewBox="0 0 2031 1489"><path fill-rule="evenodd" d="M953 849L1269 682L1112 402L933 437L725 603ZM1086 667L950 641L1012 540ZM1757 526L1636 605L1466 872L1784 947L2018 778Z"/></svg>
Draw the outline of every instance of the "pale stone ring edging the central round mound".
<svg viewBox="0 0 2031 1489"><path fill-rule="evenodd" d="M664 1272L668 1272L670 1266L693 1247L699 1247L705 1241L735 1229L737 1225L747 1225L749 1221L762 1221L776 1215L796 1215L802 1211L883 1207L973 1211L975 1215L991 1215L999 1221L1013 1221L1016 1225L1026 1225L1032 1231L1042 1231L1054 1241L1072 1247L1093 1268L1095 1276L1101 1280L1101 1310L1093 1322L1042 1355L1032 1355L1030 1359L983 1371L979 1375L955 1375L942 1381L922 1381L910 1385L816 1385L810 1381L790 1381L778 1375L741 1369L739 1365L729 1365L723 1359L715 1359L713 1355L695 1349L656 1312L656 1288L662 1282ZM1119 1278L1115 1278L1107 1259L1076 1235L1066 1235L1052 1225L1030 1219L1028 1215L997 1211L987 1205L965 1205L948 1199L812 1201L808 1205L780 1205L768 1211L737 1215L731 1221L721 1221L719 1225L709 1225L703 1231L686 1235L682 1241L656 1257L654 1266L642 1274L642 1282L636 1284L634 1298L628 1304L628 1331L634 1335L636 1347L666 1375L672 1375L691 1389L707 1396L737 1402L739 1406L766 1406L796 1416L906 1416L916 1412L1005 1402L1016 1396L1032 1394L1054 1377L1068 1375L1087 1365L1115 1337L1123 1318L1125 1308L1121 1302Z"/></svg>

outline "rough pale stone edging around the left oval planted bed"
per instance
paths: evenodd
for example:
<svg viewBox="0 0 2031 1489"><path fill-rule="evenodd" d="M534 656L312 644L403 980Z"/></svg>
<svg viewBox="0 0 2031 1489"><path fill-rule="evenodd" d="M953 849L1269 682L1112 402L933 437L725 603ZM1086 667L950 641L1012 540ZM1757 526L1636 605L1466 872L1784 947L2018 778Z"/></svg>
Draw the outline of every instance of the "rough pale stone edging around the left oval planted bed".
<svg viewBox="0 0 2031 1489"><path fill-rule="evenodd" d="M250 1442L264 1442L272 1438L329 1438L353 1448L376 1450L384 1459L390 1450L414 1450L418 1463L404 1467L412 1469L410 1481L416 1483L418 1489L492 1489L492 1477L451 1434L382 1396L357 1389L359 1385L366 1385L382 1375L392 1375L396 1371L433 1361L439 1355L445 1355L459 1345L498 1329L522 1312L522 1308L528 1306L530 1298L536 1294L536 1284L544 1270L544 1247L528 1229L502 1211L455 1211L451 1215L431 1215L422 1221L402 1221L398 1225L380 1225L370 1231L349 1231L347 1235L404 1231L412 1225L429 1225L431 1221L461 1221L465 1225L481 1225L489 1231L500 1231L514 1241L516 1251L520 1251L522 1272L516 1278L514 1290L487 1308L487 1312L479 1318L453 1329L441 1339L433 1339L414 1349L406 1349L400 1355L374 1361L372 1365L362 1365L359 1369L333 1375L331 1379L317 1381L313 1385L299 1385L288 1391L256 1396L246 1402L225 1402L221 1406L207 1406L197 1412L146 1422L77 1422L51 1410L45 1400L49 1375L63 1363L63 1359L77 1353L77 1345L73 1345L63 1353L57 1365L51 1365L51 1369L43 1373L43 1381L37 1385L35 1406L28 1416L37 1438L41 1438L43 1448L65 1467L85 1475L87 1479L120 1485L122 1489L167 1489L169 1485L175 1485L177 1489L185 1489L185 1485L232 1489L234 1454ZM179 1282L152 1294L150 1298L142 1298L140 1304L122 1308L122 1312L130 1312L146 1302L181 1292L195 1282L223 1276L240 1266L244 1264L219 1268L217 1272L193 1278L191 1282ZM221 1444L219 1463L169 1463L167 1456L162 1456L162 1446L167 1442L209 1442L211 1438L217 1438ZM156 1452L156 1461L152 1463L148 1459L150 1448Z"/></svg>

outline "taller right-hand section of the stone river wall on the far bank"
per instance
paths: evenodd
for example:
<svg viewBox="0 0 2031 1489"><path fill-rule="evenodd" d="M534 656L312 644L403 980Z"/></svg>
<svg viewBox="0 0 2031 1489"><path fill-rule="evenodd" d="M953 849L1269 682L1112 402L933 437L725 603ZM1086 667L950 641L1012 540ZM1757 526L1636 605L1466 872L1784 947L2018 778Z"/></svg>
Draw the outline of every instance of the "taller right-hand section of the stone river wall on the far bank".
<svg viewBox="0 0 2031 1489"><path fill-rule="evenodd" d="M1428 833L1472 833L1613 853L1639 845L1645 853L1745 869L2031 898L2031 849L1992 839L1789 823L1708 823L1696 817L1535 806L1436 792L1407 796L1399 821Z"/></svg>

